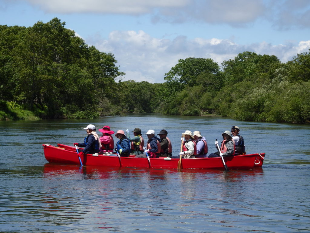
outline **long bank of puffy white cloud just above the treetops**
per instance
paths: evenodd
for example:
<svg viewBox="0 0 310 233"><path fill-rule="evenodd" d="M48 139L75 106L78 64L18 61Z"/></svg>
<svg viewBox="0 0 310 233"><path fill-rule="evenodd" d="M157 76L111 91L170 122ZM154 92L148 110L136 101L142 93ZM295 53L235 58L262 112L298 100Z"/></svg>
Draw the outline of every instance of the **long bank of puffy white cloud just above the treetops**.
<svg viewBox="0 0 310 233"><path fill-rule="evenodd" d="M308 52L309 41L298 45L272 45L270 43L252 43L241 45L228 39L187 39L178 36L172 40L153 38L140 30L113 31L108 39L90 40L91 44L102 52L114 54L120 70L126 72L123 80L164 82L164 74L187 57L211 58L221 66L224 60L233 59L245 51L258 54L276 55L281 62L287 62L297 53Z"/></svg>

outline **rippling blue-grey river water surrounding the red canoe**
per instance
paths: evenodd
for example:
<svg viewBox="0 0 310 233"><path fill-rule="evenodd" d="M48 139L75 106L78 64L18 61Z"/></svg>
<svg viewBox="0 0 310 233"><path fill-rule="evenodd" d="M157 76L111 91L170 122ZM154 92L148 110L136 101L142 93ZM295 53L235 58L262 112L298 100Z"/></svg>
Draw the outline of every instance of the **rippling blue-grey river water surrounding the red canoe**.
<svg viewBox="0 0 310 233"><path fill-rule="evenodd" d="M240 127L250 171L83 167L48 163L42 144L82 143L88 124L185 130L215 139ZM98 130L97 130L98 131ZM132 133L131 133L132 134ZM0 122L0 232L310 232L310 126L159 114ZM115 139L115 142L117 140Z"/></svg>

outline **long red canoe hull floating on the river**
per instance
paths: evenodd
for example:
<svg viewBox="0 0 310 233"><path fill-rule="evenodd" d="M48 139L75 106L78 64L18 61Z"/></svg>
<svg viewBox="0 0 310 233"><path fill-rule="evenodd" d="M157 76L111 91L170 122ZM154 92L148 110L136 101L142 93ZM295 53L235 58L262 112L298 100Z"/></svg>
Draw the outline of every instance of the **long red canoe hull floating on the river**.
<svg viewBox="0 0 310 233"><path fill-rule="evenodd" d="M74 147L58 144L58 147L43 144L44 156L48 162L78 164L80 161ZM224 157L229 169L253 169L262 167L265 153L237 155ZM84 166L108 167L139 167L139 168L178 168L179 159L151 158L150 165L147 158L121 157L105 154L84 154L81 156ZM221 158L187 158L181 161L182 169L223 169Z"/></svg>

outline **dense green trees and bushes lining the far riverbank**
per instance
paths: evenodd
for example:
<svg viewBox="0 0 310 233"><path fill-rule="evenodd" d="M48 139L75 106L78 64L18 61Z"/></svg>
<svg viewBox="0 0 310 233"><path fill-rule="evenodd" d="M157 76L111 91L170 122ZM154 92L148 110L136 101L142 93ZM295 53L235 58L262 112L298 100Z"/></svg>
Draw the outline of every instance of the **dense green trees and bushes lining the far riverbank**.
<svg viewBox="0 0 310 233"><path fill-rule="evenodd" d="M113 53L98 51L54 18L0 25L0 119L215 114L309 123L310 49L281 63L253 52L223 61L179 59L164 83L122 81ZM28 116L28 118L27 118Z"/></svg>

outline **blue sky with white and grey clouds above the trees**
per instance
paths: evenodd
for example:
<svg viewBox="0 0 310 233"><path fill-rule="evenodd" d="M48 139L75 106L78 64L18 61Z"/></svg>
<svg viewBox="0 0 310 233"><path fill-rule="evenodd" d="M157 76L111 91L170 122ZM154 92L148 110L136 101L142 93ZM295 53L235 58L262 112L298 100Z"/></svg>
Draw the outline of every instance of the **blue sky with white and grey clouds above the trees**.
<svg viewBox="0 0 310 233"><path fill-rule="evenodd" d="M112 52L123 81L165 82L187 57L221 66L250 51L287 62L310 48L310 0L0 0L0 25L54 17Z"/></svg>

